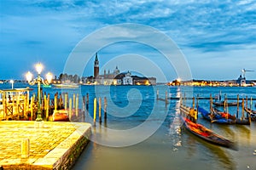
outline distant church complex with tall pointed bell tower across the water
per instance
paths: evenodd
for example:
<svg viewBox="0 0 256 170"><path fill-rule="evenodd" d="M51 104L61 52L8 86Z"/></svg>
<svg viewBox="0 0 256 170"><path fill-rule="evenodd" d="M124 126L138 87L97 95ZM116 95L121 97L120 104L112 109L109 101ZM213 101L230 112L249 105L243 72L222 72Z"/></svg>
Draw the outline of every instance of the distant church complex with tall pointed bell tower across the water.
<svg viewBox="0 0 256 170"><path fill-rule="evenodd" d="M120 73L118 66L108 73L104 70L104 74L100 75L100 66L99 66L99 59L98 54L96 53L95 60L94 60L94 70L93 70L93 77L90 82L93 84L98 85L155 85L156 78L155 77L137 77L131 76L131 71L122 72Z"/></svg>

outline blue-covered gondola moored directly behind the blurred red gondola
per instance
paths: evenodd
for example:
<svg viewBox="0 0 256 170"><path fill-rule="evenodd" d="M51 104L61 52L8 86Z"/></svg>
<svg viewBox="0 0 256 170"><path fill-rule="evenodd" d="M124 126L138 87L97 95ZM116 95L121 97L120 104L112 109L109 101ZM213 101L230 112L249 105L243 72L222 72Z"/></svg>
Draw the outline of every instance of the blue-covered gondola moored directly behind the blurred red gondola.
<svg viewBox="0 0 256 170"><path fill-rule="evenodd" d="M206 111L202 107L198 106L198 111L201 112L201 116L209 122L219 123L219 124L235 124L235 120L227 119L223 116L215 114L213 111Z"/></svg>

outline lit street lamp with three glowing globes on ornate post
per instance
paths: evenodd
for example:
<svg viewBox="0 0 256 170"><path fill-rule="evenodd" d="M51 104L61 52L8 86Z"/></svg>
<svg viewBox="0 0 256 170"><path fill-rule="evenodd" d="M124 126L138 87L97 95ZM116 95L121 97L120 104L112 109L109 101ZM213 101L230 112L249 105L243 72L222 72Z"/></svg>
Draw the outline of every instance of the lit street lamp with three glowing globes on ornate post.
<svg viewBox="0 0 256 170"><path fill-rule="evenodd" d="M26 73L26 80L27 80L27 82L30 84L30 85L34 85L34 84L36 84L36 83L38 83L38 115L37 115L37 119L36 119L36 121L37 122L41 122L42 121L42 116L41 116L41 114L42 114L42 111L41 111L41 96L40 96L40 94L41 94L41 90L40 90L40 88L41 88L41 82L44 84L44 85L49 85L49 83L51 82L51 80L52 80L52 74L50 73L50 72L48 72L47 74L46 74L46 81L44 81L44 78L43 77L41 77L41 72L43 71L43 68L44 68L44 66L41 64L41 63L38 63L37 65L35 65L35 67L36 67L36 71L38 72L38 77L36 77L36 78L34 78L33 80L32 80L32 73L30 72L30 71L28 71L27 73Z"/></svg>

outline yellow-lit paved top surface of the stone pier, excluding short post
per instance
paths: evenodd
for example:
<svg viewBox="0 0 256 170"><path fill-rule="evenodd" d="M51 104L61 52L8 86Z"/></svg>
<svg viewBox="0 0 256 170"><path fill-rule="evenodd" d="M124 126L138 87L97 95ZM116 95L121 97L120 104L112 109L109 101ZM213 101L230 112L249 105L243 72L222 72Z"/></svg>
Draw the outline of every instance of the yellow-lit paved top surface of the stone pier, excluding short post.
<svg viewBox="0 0 256 170"><path fill-rule="evenodd" d="M83 127L81 133L79 130L76 131L80 127ZM88 129L90 124L81 122L2 121L0 122L0 166L40 165L38 160L42 160L51 150L57 146L62 146L62 149L64 143L67 149L70 148ZM78 137L68 139L73 133L78 133L76 135ZM28 158L21 158L21 142L24 139L30 141Z"/></svg>

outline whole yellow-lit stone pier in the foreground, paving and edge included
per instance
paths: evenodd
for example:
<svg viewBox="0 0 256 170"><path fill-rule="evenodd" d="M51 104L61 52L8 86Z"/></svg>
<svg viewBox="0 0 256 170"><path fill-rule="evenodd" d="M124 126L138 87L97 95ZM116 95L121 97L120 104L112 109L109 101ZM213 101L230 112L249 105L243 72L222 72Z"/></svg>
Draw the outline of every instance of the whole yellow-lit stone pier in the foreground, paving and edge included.
<svg viewBox="0 0 256 170"><path fill-rule="evenodd" d="M0 122L0 169L70 169L89 142L90 123Z"/></svg>

